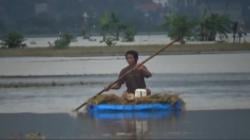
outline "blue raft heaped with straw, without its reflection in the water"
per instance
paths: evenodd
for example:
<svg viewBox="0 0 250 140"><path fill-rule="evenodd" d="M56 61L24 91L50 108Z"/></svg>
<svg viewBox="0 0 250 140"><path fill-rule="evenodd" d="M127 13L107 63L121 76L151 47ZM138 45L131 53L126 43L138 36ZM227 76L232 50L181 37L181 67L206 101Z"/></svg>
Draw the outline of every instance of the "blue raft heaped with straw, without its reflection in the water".
<svg viewBox="0 0 250 140"><path fill-rule="evenodd" d="M88 102L87 110L97 111L161 111L181 110L183 100L178 95L154 94L128 101L115 94L100 95Z"/></svg>

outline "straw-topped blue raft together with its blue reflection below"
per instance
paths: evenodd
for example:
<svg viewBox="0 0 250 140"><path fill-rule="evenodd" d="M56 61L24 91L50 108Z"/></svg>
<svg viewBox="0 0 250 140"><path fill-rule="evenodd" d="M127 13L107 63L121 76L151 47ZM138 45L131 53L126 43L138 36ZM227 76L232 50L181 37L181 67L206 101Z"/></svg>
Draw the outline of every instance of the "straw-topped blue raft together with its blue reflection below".
<svg viewBox="0 0 250 140"><path fill-rule="evenodd" d="M178 115L184 101L176 93L160 93L128 101L117 94L90 99L88 114L95 119L159 119Z"/></svg>

